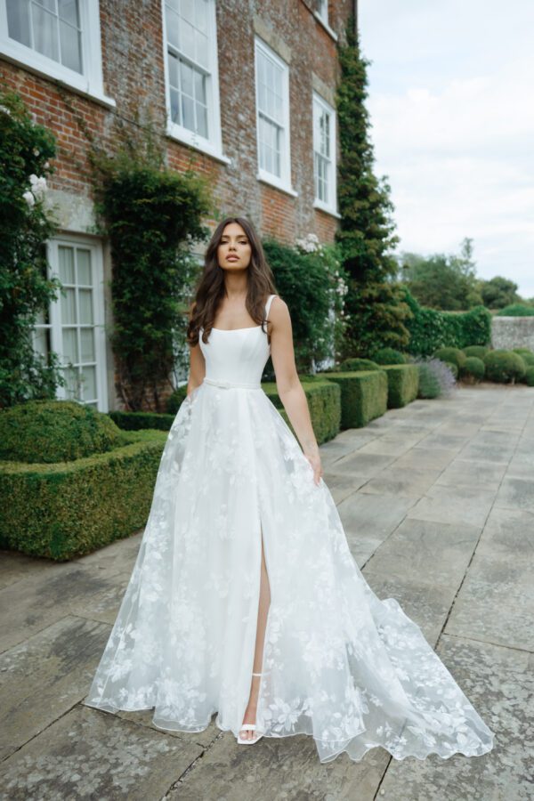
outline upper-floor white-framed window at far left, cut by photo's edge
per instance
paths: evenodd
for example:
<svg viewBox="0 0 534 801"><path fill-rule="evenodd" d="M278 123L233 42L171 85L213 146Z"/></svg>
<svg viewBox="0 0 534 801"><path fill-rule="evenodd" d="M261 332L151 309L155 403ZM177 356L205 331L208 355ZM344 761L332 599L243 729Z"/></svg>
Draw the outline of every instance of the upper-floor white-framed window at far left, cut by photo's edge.
<svg viewBox="0 0 534 801"><path fill-rule="evenodd" d="M0 0L0 53L108 106L98 0Z"/></svg>

